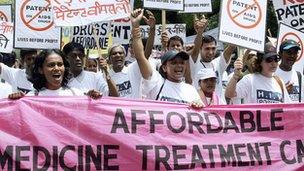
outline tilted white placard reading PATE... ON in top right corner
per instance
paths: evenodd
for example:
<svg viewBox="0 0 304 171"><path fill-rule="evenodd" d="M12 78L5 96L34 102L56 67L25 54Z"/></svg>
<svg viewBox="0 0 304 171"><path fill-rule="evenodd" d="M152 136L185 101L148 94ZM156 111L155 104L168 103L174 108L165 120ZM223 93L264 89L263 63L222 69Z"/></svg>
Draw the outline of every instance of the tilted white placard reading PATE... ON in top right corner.
<svg viewBox="0 0 304 171"><path fill-rule="evenodd" d="M304 1L273 0L278 22L304 32Z"/></svg>

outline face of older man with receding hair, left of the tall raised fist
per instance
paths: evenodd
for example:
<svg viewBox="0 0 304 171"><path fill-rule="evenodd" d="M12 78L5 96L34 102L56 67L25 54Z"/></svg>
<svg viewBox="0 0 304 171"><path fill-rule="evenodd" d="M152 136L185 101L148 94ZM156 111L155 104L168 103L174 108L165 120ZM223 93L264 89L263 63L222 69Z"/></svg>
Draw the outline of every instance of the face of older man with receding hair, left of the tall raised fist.
<svg viewBox="0 0 304 171"><path fill-rule="evenodd" d="M121 47L118 46L112 49L109 60L115 72L120 72L123 69L125 57L124 50Z"/></svg>

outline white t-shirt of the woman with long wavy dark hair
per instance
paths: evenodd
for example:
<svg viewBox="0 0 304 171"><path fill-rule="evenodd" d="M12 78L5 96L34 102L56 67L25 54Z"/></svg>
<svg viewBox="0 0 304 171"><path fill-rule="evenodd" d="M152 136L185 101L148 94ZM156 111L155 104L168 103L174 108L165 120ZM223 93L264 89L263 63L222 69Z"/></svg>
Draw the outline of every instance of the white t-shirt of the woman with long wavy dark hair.
<svg viewBox="0 0 304 171"><path fill-rule="evenodd" d="M83 92L77 88L60 88L57 90L43 89L39 92L30 91L26 96L84 96Z"/></svg>

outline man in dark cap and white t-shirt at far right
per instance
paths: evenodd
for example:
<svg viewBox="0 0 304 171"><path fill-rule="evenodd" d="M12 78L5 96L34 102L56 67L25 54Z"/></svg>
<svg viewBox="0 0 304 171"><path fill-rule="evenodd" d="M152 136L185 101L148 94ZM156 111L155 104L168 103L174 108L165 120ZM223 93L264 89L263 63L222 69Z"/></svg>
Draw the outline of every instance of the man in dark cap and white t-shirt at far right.
<svg viewBox="0 0 304 171"><path fill-rule="evenodd" d="M301 48L294 40L287 39L281 43L279 49L282 60L276 75L283 79L290 99L293 102L303 102L303 74L293 68Z"/></svg>

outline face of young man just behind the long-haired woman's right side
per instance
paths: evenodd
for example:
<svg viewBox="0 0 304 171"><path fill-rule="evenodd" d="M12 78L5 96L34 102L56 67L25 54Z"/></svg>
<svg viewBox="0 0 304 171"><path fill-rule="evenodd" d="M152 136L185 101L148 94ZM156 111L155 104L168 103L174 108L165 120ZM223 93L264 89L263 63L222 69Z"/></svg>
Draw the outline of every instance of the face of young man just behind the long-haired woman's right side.
<svg viewBox="0 0 304 171"><path fill-rule="evenodd" d="M68 61L70 63L71 72L77 76L83 69L83 60L85 54L79 50L73 50L67 54Z"/></svg>

